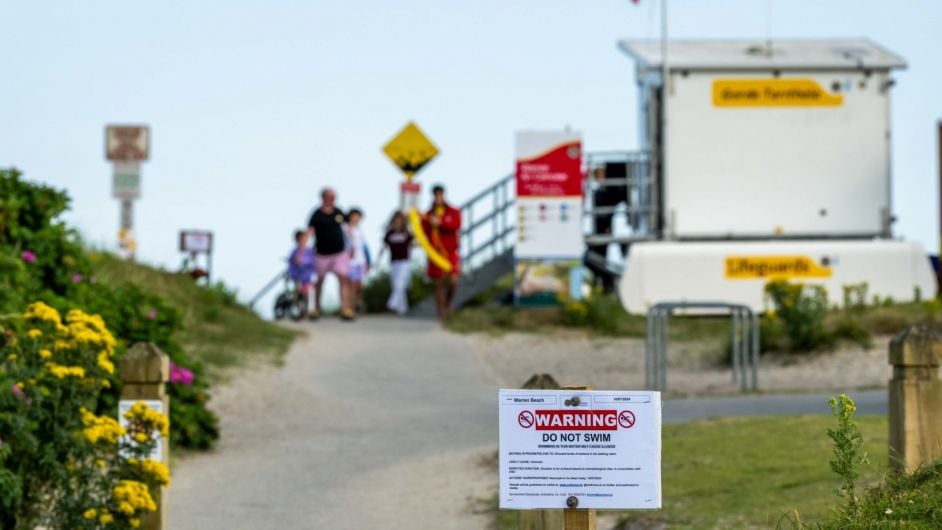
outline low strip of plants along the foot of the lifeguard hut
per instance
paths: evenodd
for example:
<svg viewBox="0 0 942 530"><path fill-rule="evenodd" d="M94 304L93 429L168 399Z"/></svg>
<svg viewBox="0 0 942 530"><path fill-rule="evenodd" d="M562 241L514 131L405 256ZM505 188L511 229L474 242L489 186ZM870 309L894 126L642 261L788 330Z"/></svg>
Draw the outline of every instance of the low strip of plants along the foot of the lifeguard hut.
<svg viewBox="0 0 942 530"><path fill-rule="evenodd" d="M866 300L866 284L847 286L842 309L828 308L821 287L773 281L766 286L771 311L762 315L763 352L805 353L833 348L847 341L869 348L873 335L894 334L926 320L942 319L939 300L906 304ZM493 298L492 298L493 300ZM564 300L557 307L515 308L487 304L467 307L446 325L459 333L541 332L567 326L602 336L639 337L646 332L643 315L626 313L613 295L594 293L585 300ZM671 341L698 341L728 348L729 320L718 317L676 317ZM722 357L722 356L720 356Z"/></svg>

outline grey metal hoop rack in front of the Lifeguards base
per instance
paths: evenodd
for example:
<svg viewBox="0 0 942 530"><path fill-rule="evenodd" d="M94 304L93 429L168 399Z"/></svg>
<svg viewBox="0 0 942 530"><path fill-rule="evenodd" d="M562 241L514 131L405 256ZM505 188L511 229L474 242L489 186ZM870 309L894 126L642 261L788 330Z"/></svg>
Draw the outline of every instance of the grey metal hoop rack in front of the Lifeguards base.
<svg viewBox="0 0 942 530"><path fill-rule="evenodd" d="M733 358L733 383L756 390L759 386L759 317L748 306L726 302L661 302L648 310L644 341L644 383L650 390L667 390L667 325L678 309L728 311Z"/></svg>

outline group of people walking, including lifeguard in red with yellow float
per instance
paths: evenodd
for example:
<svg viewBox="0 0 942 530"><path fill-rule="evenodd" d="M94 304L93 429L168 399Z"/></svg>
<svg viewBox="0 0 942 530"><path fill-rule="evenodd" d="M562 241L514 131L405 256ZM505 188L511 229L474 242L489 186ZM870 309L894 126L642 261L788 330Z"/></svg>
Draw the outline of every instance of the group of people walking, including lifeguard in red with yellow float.
<svg viewBox="0 0 942 530"><path fill-rule="evenodd" d="M328 274L336 276L340 284L340 318L352 321L358 310L362 311L363 284L372 265L369 246L360 226L362 220L362 210L350 208L344 213L337 206L336 192L332 188L324 188L321 203L311 214L307 228L295 232L295 248L288 259L288 273L305 301L313 290L314 305L309 313L310 319L321 316L323 286ZM440 185L432 188L432 205L422 215L422 230L432 250L451 266L451 270L446 271L429 259L426 267L426 274L435 284L437 314L443 319L451 312L461 273L458 249L461 212L445 201L445 188ZM415 240L406 214L394 212L386 227L377 261L381 261L383 254L389 251L391 294L386 306L400 315L409 310L411 250Z"/></svg>

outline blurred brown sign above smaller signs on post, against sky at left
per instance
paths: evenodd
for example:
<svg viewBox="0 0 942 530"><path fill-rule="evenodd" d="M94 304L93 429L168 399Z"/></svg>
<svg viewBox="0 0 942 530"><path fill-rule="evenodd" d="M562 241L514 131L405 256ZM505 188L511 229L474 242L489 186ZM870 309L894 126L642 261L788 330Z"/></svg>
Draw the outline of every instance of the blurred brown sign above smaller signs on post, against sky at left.
<svg viewBox="0 0 942 530"><path fill-rule="evenodd" d="M105 127L105 158L113 164L111 193L121 201L118 247L129 260L133 260L137 252L137 240L134 237L134 200L141 196L141 162L149 157L149 127Z"/></svg>

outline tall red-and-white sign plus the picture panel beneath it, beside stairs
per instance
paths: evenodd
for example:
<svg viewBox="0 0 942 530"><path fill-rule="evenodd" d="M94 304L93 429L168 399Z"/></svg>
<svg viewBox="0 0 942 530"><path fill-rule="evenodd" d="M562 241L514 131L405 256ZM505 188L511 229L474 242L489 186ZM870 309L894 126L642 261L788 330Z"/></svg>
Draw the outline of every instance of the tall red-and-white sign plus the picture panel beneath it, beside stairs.
<svg viewBox="0 0 942 530"><path fill-rule="evenodd" d="M585 253L582 140L573 131L517 133L514 301L555 302Z"/></svg>

